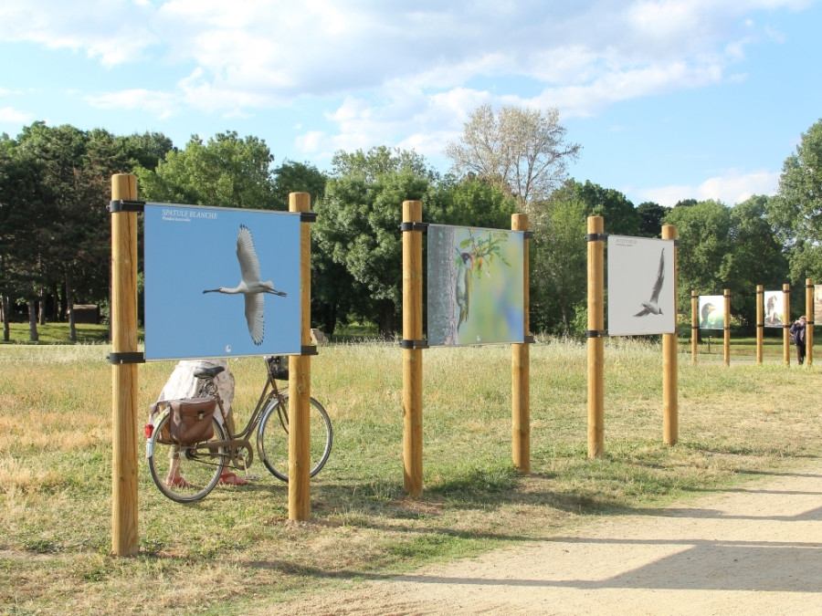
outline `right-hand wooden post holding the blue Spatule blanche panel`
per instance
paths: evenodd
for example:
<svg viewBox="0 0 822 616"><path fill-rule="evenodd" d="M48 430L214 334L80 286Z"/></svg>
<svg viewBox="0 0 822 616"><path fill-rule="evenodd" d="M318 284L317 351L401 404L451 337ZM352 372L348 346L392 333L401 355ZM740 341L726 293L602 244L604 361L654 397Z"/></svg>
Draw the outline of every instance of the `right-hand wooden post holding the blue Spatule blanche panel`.
<svg viewBox="0 0 822 616"><path fill-rule="evenodd" d="M309 193L289 194L290 212L310 212ZM300 345L311 346L311 224L300 224ZM311 355L289 357L289 519L311 517Z"/></svg>

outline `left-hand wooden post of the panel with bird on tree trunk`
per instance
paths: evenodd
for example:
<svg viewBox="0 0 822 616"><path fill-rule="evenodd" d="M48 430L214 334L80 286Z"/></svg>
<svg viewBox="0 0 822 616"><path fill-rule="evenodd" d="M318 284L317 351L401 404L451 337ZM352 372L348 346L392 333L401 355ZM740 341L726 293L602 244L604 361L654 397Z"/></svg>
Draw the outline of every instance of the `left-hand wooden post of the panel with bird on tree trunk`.
<svg viewBox="0 0 822 616"><path fill-rule="evenodd" d="M422 221L422 202L403 202L403 222ZM422 231L403 233L403 486L422 496Z"/></svg>

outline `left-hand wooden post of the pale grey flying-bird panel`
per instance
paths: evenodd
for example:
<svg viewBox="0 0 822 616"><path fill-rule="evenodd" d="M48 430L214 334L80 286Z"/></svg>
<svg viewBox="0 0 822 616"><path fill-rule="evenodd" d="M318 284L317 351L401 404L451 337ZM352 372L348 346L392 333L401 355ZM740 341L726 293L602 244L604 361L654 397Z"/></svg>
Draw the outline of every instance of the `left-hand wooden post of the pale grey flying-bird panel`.
<svg viewBox="0 0 822 616"><path fill-rule="evenodd" d="M605 221L588 217L588 457L605 454Z"/></svg>

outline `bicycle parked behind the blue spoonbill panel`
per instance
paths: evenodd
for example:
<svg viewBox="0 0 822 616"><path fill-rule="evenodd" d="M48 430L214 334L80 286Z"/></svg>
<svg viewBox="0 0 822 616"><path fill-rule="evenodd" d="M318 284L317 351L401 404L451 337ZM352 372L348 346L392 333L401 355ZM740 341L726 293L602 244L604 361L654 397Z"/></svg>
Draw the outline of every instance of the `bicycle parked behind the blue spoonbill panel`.
<svg viewBox="0 0 822 616"><path fill-rule="evenodd" d="M247 471L254 460L251 435L257 433L257 452L271 475L288 482L289 467L289 394L280 392L277 381L289 378L288 368L282 365L281 356L267 356L267 379L259 395L257 406L248 418L246 427L239 433L228 430L227 414L217 390L215 377L222 366L195 371L198 380L198 397L211 397L216 401L223 421L212 418L214 436L202 443L184 445L171 441L169 426L171 413L166 405L145 426L146 456L154 484L164 496L178 503L191 503L204 498L220 480L226 466ZM328 461L332 449L332 424L320 402L311 398L310 404L310 456L313 477ZM277 421L273 421L276 419Z"/></svg>

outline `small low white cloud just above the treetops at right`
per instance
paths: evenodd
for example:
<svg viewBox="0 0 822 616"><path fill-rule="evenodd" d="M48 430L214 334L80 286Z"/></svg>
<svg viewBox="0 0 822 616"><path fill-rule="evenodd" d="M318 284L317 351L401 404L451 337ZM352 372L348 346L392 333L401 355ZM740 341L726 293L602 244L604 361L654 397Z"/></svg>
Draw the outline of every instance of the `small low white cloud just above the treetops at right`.
<svg viewBox="0 0 822 616"><path fill-rule="evenodd" d="M641 197L640 201L653 201L669 207L685 199L713 199L723 204L735 205L741 204L754 194L775 194L779 188L779 175L767 171L730 171L725 175L708 178L698 185L660 186L641 189L636 193Z"/></svg>

